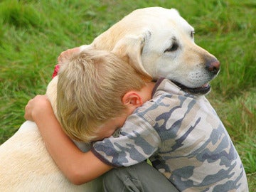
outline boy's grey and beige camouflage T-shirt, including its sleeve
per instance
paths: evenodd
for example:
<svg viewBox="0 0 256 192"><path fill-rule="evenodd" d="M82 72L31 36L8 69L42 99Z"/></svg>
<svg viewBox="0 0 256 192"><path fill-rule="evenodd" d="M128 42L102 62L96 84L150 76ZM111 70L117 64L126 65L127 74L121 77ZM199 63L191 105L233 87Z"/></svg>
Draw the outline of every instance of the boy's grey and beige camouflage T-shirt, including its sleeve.
<svg viewBox="0 0 256 192"><path fill-rule="evenodd" d="M159 80L153 98L127 118L119 137L95 142L105 164L131 166L145 159L179 191L248 191L238 152L206 97Z"/></svg>

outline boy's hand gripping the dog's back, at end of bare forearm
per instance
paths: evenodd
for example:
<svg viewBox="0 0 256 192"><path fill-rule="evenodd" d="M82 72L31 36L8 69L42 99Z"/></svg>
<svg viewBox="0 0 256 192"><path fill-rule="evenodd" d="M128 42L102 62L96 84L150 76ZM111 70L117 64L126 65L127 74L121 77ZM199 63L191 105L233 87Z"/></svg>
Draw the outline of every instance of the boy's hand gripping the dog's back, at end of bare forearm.
<svg viewBox="0 0 256 192"><path fill-rule="evenodd" d="M28 101L25 107L24 118L34 122L36 117L46 113L53 113L48 98L46 95L36 95L36 97Z"/></svg>

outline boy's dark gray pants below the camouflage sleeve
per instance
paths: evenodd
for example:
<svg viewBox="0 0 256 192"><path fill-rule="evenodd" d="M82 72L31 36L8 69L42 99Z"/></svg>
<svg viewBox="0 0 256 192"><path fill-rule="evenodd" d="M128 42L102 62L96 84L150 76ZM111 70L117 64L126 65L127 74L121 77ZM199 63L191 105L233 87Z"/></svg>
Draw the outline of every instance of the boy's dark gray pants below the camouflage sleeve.
<svg viewBox="0 0 256 192"><path fill-rule="evenodd" d="M146 162L112 169L103 178L105 192L177 192L177 188Z"/></svg>

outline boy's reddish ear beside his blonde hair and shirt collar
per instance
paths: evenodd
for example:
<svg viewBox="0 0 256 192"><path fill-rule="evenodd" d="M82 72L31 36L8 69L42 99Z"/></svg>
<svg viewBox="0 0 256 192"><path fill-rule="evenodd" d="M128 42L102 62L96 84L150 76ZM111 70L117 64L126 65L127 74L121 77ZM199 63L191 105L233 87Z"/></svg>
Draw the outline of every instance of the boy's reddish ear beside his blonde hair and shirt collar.
<svg viewBox="0 0 256 192"><path fill-rule="evenodd" d="M122 97L122 103L127 106L139 107L143 104L142 97L134 91L129 91L125 93Z"/></svg>

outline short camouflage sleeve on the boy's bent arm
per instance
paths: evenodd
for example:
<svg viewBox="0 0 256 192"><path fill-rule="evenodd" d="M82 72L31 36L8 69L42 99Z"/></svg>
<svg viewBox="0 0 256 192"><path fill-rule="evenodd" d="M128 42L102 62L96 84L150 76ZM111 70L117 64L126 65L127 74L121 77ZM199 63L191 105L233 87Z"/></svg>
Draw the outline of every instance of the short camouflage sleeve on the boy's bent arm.
<svg viewBox="0 0 256 192"><path fill-rule="evenodd" d="M159 149L160 137L150 119L132 114L119 137L106 138L92 145L92 153L111 166L131 166L149 158Z"/></svg>

